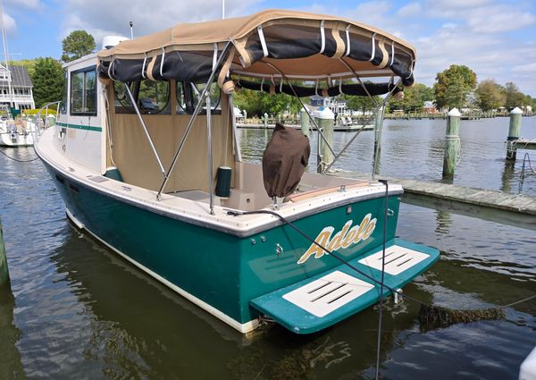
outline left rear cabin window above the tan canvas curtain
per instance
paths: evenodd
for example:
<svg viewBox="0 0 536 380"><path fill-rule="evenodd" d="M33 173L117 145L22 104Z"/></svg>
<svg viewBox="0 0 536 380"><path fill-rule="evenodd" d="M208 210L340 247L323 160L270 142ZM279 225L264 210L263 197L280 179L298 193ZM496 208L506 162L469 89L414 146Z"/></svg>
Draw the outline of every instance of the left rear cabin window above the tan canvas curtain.
<svg viewBox="0 0 536 380"><path fill-rule="evenodd" d="M113 82L115 113L135 114L125 86L120 81ZM140 114L171 114L170 82L141 80L130 83L129 88L138 104Z"/></svg>

